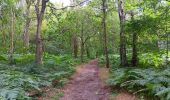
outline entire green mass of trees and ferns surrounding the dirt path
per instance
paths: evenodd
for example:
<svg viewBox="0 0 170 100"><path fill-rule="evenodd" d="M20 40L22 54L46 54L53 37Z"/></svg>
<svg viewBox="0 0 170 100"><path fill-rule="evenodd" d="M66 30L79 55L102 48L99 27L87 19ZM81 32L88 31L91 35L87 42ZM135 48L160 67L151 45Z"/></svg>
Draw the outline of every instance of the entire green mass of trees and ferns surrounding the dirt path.
<svg viewBox="0 0 170 100"><path fill-rule="evenodd" d="M111 86L170 99L170 1L52 1L0 0L0 100L62 86L95 58Z"/></svg>

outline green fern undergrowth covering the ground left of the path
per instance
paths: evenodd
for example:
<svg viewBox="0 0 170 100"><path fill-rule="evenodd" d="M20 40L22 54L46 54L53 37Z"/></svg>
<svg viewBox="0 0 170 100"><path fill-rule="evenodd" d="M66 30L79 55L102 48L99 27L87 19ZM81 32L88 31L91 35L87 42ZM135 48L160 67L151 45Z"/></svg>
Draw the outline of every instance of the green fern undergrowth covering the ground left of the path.
<svg viewBox="0 0 170 100"><path fill-rule="evenodd" d="M61 87L80 64L69 55L44 54L42 66L34 64L33 54L15 54L14 64L8 64L8 55L0 56L0 100L32 99L32 91L42 94L42 88ZM36 98L36 97L33 97Z"/></svg>

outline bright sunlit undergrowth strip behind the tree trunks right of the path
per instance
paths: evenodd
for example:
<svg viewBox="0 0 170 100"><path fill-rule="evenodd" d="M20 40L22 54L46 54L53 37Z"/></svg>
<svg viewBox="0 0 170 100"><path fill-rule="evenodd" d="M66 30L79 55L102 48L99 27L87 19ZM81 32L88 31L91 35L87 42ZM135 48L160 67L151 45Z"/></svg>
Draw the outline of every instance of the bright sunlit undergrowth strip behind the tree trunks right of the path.
<svg viewBox="0 0 170 100"><path fill-rule="evenodd" d="M131 62L131 55L132 54L127 54L127 59L129 62ZM109 54L109 59L110 59L110 65L115 67L120 65L120 56L119 54ZM162 68L167 65L167 60L168 64L170 64L170 53L169 53L169 58L166 59L166 52L160 52L160 53L140 53L138 55L139 59L139 64L138 67L140 68ZM105 56L100 56L99 57L99 63L105 64Z"/></svg>

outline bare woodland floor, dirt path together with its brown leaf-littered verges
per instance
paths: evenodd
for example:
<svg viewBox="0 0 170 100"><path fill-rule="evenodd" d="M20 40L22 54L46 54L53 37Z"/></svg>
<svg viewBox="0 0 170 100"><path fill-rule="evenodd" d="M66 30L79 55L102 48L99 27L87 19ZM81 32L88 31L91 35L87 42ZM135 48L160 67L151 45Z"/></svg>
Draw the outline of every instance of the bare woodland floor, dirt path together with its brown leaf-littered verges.
<svg viewBox="0 0 170 100"><path fill-rule="evenodd" d="M78 67L77 73L64 88L49 89L39 100L136 100L135 96L126 92L113 96L110 87L105 84L108 77L109 70L100 68L98 61L92 60Z"/></svg>

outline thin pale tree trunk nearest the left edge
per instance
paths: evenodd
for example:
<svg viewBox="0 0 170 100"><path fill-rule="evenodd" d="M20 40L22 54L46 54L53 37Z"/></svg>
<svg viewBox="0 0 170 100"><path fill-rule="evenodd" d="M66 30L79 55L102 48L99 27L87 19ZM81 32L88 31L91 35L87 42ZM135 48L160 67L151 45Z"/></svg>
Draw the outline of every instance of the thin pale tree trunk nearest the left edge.
<svg viewBox="0 0 170 100"><path fill-rule="evenodd" d="M13 63L13 53L14 53L14 11L11 8L11 32L10 32L10 51L9 51L9 63Z"/></svg>

